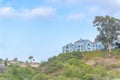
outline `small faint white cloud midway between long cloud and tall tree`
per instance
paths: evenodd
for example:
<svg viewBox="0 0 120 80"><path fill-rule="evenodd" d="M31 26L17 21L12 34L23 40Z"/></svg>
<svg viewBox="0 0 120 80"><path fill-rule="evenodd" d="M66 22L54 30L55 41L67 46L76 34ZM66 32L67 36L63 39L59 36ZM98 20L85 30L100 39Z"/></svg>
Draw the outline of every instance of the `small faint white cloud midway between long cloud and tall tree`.
<svg viewBox="0 0 120 80"><path fill-rule="evenodd" d="M72 21L72 20L82 20L82 19L84 19L84 15L81 14L81 13L73 13L73 14L70 14L67 19L69 21Z"/></svg>

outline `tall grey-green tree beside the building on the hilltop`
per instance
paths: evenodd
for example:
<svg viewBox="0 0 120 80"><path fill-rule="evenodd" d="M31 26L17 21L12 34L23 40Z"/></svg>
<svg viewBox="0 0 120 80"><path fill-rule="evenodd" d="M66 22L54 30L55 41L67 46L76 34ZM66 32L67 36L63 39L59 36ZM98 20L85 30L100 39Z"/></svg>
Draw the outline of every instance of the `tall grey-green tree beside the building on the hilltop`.
<svg viewBox="0 0 120 80"><path fill-rule="evenodd" d="M110 16L96 16L93 24L97 27L99 35L97 41L101 41L104 47L111 51L113 42L117 40L120 33L120 20Z"/></svg>

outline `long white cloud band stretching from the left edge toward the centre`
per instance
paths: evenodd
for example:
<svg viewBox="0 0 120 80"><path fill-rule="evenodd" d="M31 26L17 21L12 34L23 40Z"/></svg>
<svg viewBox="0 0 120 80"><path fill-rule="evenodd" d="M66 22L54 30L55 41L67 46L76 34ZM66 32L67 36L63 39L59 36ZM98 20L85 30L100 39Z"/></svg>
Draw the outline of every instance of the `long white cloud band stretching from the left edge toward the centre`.
<svg viewBox="0 0 120 80"><path fill-rule="evenodd" d="M22 17L31 18L50 18L54 15L55 10L49 7L38 7L33 9L22 9L17 11L12 7L0 7L0 17Z"/></svg>

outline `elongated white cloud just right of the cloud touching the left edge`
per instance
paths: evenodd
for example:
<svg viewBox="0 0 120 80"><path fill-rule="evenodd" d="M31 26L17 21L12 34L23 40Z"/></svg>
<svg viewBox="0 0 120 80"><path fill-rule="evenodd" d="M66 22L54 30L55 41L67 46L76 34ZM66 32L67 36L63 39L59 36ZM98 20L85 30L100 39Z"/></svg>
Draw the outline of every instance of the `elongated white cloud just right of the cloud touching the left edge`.
<svg viewBox="0 0 120 80"><path fill-rule="evenodd" d="M24 18L35 18L35 17L42 17L42 18L49 18L54 15L55 10L49 7L39 7L34 9L23 9L19 15Z"/></svg>

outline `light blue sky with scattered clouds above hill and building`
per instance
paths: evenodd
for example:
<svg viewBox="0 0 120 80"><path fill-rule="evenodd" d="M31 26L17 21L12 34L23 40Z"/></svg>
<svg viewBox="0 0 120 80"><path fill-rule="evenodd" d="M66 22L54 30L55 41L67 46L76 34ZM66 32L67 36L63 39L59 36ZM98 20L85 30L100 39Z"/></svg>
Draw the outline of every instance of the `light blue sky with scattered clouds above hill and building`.
<svg viewBox="0 0 120 80"><path fill-rule="evenodd" d="M120 0L0 0L0 58L46 61L79 39L94 41L95 16L120 18Z"/></svg>

